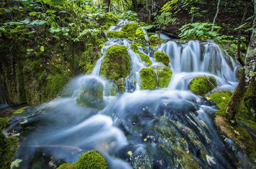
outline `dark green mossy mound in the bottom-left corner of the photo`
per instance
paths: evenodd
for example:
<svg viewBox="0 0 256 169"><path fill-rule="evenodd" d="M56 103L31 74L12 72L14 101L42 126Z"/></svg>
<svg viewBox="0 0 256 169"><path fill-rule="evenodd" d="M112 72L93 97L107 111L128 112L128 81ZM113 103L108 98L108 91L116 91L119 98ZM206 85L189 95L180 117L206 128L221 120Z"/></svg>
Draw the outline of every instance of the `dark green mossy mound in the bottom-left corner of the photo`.
<svg viewBox="0 0 256 169"><path fill-rule="evenodd" d="M4 133L0 131L0 168L9 169L13 156L18 148L18 139L14 136L6 138Z"/></svg>

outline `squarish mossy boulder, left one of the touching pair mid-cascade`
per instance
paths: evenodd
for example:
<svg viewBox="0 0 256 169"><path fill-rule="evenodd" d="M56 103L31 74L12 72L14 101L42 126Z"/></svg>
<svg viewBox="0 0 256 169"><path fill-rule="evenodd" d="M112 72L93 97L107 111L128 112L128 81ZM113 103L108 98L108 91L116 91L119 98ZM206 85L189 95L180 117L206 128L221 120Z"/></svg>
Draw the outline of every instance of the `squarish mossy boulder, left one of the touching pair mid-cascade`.
<svg viewBox="0 0 256 169"><path fill-rule="evenodd" d="M142 68L139 71L141 78L140 89L155 89L156 88L156 72L152 68Z"/></svg>

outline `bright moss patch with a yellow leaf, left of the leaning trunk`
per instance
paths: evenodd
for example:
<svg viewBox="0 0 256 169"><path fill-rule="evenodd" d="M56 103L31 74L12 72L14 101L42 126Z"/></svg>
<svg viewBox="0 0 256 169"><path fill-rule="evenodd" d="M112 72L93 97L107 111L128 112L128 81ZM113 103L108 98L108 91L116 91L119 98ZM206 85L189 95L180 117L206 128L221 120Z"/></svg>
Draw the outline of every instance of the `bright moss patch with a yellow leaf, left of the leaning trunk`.
<svg viewBox="0 0 256 169"><path fill-rule="evenodd" d="M218 116L226 116L226 109L228 106L228 101L232 96L231 90L223 90L222 92L214 92L210 95L211 100L216 104L219 110L216 112L215 115Z"/></svg>

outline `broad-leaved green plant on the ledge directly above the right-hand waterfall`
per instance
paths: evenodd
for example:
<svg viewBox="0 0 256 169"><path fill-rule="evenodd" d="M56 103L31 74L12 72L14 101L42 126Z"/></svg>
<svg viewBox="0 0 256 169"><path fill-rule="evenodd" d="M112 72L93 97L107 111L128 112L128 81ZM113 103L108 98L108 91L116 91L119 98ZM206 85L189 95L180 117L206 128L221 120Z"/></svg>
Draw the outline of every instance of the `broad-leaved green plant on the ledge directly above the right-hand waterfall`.
<svg viewBox="0 0 256 169"><path fill-rule="evenodd" d="M211 28L214 28L215 31L210 31ZM200 41L205 41L207 39L215 40L216 36L218 35L217 32L220 29L220 26L216 26L215 24L211 23L189 23L179 29L182 32L179 34L179 37Z"/></svg>

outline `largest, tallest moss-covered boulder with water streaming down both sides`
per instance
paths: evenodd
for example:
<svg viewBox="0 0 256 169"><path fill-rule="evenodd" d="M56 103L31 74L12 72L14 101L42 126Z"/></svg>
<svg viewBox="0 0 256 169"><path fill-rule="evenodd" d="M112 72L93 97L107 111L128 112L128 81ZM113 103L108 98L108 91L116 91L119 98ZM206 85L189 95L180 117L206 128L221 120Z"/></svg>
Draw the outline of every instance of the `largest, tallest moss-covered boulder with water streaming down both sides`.
<svg viewBox="0 0 256 169"><path fill-rule="evenodd" d="M100 66L100 76L115 80L118 90L124 91L124 78L129 75L129 70L130 57L127 47L124 45L108 47Z"/></svg>

